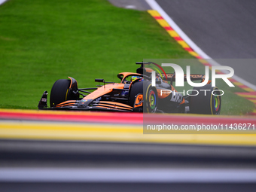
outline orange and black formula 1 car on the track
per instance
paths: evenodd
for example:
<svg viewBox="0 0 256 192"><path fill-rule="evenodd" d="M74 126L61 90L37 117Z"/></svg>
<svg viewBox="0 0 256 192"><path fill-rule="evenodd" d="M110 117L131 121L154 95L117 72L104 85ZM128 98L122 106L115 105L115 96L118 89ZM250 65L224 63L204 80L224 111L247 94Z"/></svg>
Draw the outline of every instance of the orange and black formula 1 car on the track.
<svg viewBox="0 0 256 192"><path fill-rule="evenodd" d="M47 108L47 91L38 104L39 109L80 110L80 111L136 111L148 113L194 113L220 114L221 95L212 94L218 87L210 81L204 87L194 87L190 95L178 93L172 86L175 73L167 73L154 62L136 62L141 65L136 73L123 72L117 75L120 83L106 82L96 88L78 88L75 78L59 79L50 91L50 108ZM145 67L154 64L163 73L155 75L152 86L152 69ZM159 71L158 71L159 72ZM165 79L164 79L165 78ZM190 75L191 81L205 80L205 75ZM184 75L184 81L186 81ZM200 90L210 90L202 92Z"/></svg>

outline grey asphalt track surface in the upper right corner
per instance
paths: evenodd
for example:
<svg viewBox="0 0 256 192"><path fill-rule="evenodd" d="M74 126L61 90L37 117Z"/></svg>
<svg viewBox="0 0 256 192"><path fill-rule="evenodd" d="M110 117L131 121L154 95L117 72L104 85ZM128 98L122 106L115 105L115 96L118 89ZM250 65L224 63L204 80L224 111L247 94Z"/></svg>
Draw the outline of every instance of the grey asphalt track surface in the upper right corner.
<svg viewBox="0 0 256 192"><path fill-rule="evenodd" d="M212 59L256 58L254 0L157 0L181 30ZM227 66L224 60L221 65ZM228 62L235 75L256 84L256 64Z"/></svg>

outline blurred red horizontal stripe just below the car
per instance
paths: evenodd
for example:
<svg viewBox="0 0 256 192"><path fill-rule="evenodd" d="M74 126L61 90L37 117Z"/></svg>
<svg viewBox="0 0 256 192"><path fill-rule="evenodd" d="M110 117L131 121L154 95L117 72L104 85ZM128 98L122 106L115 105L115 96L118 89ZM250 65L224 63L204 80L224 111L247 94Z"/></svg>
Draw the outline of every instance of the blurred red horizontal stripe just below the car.
<svg viewBox="0 0 256 192"><path fill-rule="evenodd" d="M102 114L102 112L101 112ZM85 123L123 123L123 124L142 124L146 123L175 123L175 124L219 124L219 123L254 123L256 119L250 117L236 116L216 116L216 115L178 115L178 114L142 114L142 113L121 113L121 112L105 112L104 115L98 113L76 114L69 112L68 114L54 113L24 113L22 111L0 111L0 119L9 120L56 120L56 121L75 121Z"/></svg>

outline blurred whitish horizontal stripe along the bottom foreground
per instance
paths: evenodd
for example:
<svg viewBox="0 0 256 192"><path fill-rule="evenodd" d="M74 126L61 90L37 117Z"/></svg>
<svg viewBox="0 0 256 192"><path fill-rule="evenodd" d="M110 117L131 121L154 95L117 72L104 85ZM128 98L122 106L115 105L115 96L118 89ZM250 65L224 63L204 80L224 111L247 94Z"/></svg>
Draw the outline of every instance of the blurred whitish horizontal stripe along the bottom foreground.
<svg viewBox="0 0 256 192"><path fill-rule="evenodd" d="M0 181L255 182L255 169L1 168Z"/></svg>

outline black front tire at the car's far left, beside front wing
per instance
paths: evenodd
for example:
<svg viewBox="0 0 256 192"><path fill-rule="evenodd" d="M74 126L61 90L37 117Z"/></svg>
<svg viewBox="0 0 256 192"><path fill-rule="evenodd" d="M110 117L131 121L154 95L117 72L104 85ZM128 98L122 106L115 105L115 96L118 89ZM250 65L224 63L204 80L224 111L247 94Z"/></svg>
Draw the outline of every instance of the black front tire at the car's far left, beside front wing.
<svg viewBox="0 0 256 192"><path fill-rule="evenodd" d="M70 83L69 79L59 79L53 84L50 91L51 108L68 99Z"/></svg>

